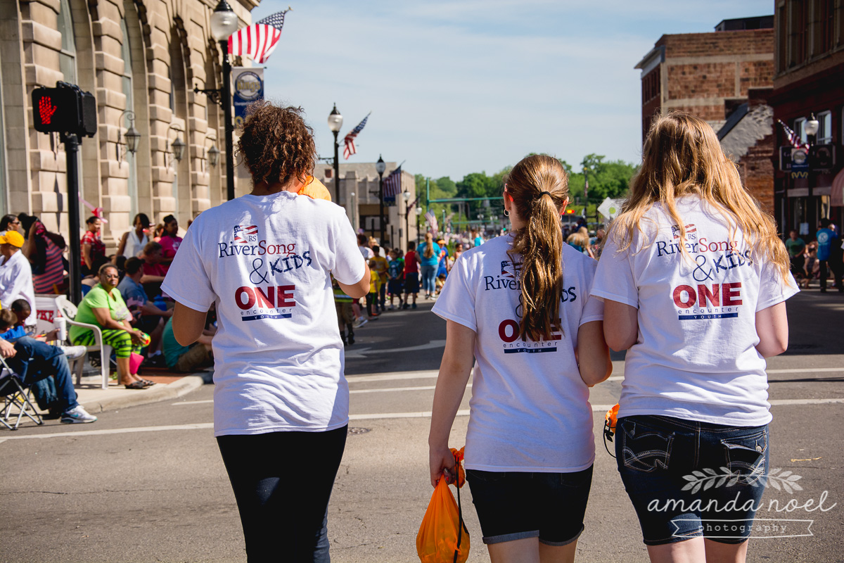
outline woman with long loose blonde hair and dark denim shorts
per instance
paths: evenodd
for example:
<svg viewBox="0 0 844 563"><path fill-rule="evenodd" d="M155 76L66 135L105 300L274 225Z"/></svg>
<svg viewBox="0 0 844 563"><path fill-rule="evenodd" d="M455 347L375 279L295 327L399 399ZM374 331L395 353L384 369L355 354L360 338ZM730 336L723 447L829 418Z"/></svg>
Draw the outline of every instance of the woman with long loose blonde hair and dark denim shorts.
<svg viewBox="0 0 844 563"><path fill-rule="evenodd" d="M652 561L745 559L771 453L765 359L786 349L798 291L788 267L712 128L657 117L593 290L607 343L628 350L615 451Z"/></svg>

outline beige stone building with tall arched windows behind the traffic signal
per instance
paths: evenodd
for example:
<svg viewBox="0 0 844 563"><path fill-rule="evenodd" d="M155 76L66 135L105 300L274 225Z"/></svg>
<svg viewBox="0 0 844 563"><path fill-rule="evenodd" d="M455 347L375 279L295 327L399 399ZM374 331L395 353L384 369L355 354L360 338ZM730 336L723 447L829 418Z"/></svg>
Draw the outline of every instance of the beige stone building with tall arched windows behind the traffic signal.
<svg viewBox="0 0 844 563"><path fill-rule="evenodd" d="M259 0L230 0L241 27ZM80 147L79 192L103 208L111 248L143 212L182 227L225 199L222 110L193 88L219 88L210 33L217 0L0 0L0 205L68 235L66 161L57 135L36 133L31 92L57 81L95 95L97 133ZM131 112L131 113L130 113ZM132 119L133 117L133 119ZM138 151L126 150L133 123ZM173 144L185 143L174 158ZM221 151L209 165L208 149ZM238 194L248 189L241 181ZM80 205L82 224L90 214Z"/></svg>

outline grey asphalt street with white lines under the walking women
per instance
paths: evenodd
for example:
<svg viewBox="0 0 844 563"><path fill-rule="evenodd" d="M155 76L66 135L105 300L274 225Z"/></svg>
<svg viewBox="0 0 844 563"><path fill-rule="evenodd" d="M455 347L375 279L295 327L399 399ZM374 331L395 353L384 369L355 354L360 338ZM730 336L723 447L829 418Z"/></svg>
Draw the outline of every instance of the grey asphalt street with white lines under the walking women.
<svg viewBox="0 0 844 563"><path fill-rule="evenodd" d="M384 313L360 328L348 349L352 420L329 506L334 561L418 560L416 533L431 493L429 411L445 342L445 322L430 313L430 303ZM844 561L844 297L809 290L787 306L790 348L768 362L771 469L801 479L776 481L799 490L768 486L748 560ZM617 360L611 379L592 389L597 455L579 561L647 560L601 437L622 376ZM96 425L48 420L0 431L0 561L246 561L212 432L213 392L205 385L176 400L107 411ZM469 394L453 447L463 446ZM309 460L289 452L289 463L300 478L284 486L307 488ZM489 560L468 487L462 496L469 560Z"/></svg>

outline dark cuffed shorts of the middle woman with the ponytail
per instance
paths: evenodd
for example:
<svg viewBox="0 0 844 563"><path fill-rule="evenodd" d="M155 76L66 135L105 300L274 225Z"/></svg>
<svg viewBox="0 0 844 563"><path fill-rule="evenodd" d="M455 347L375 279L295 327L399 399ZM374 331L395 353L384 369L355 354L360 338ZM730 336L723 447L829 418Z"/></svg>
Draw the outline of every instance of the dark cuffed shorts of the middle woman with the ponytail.
<svg viewBox="0 0 844 563"><path fill-rule="evenodd" d="M538 538L566 545L583 532L592 467L575 473L466 470L484 544Z"/></svg>

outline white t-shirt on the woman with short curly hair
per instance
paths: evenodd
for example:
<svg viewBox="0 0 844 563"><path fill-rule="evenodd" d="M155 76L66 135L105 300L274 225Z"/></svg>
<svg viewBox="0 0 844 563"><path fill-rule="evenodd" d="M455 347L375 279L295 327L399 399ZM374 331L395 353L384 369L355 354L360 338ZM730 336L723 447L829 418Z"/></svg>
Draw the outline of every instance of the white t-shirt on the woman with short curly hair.
<svg viewBox="0 0 844 563"><path fill-rule="evenodd" d="M334 203L246 195L204 211L187 230L162 289L196 311L217 305L215 436L348 423L329 272L344 284L365 272Z"/></svg>

